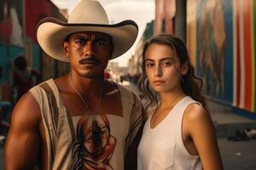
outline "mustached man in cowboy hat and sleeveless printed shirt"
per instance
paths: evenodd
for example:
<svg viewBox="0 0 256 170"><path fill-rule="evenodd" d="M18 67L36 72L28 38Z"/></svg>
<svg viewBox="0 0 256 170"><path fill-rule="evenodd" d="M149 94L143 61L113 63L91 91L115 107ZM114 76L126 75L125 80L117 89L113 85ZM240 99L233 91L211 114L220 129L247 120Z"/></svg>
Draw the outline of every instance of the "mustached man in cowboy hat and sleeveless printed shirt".
<svg viewBox="0 0 256 170"><path fill-rule="evenodd" d="M82 0L67 23L41 20L37 36L71 71L32 88L15 105L5 169L124 169L142 107L131 91L105 80L104 70L108 59L131 48L136 23L109 25L100 3Z"/></svg>

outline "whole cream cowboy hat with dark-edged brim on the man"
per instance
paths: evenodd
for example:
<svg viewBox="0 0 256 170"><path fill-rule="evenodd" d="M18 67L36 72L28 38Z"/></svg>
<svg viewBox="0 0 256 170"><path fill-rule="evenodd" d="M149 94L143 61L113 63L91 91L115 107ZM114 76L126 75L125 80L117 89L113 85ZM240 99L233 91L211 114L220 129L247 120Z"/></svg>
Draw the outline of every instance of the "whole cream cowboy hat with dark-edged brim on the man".
<svg viewBox="0 0 256 170"><path fill-rule="evenodd" d="M61 44L65 38L78 31L98 31L107 33L113 39L113 55L119 57L136 41L138 27L132 20L124 20L109 25L108 15L101 3L95 0L81 0L73 9L67 22L55 18L44 18L38 23L38 43L49 56L69 62Z"/></svg>

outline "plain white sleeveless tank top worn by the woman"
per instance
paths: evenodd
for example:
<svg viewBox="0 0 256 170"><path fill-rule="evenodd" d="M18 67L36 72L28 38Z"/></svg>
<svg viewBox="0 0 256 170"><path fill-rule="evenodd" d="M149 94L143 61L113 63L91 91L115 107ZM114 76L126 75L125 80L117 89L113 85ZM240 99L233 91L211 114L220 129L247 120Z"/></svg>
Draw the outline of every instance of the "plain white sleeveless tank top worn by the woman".
<svg viewBox="0 0 256 170"><path fill-rule="evenodd" d="M154 111L148 116L143 137L138 146L138 170L198 170L202 169L199 156L191 156L183 144L183 113L188 105L198 103L184 97L156 127L150 127ZM201 104L200 104L201 105Z"/></svg>

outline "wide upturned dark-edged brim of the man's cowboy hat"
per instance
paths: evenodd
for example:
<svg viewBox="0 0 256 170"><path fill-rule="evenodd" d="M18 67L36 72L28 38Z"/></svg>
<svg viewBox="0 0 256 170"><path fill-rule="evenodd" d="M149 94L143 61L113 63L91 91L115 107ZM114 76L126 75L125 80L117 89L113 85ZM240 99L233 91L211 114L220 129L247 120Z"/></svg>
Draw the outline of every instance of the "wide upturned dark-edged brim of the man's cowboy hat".
<svg viewBox="0 0 256 170"><path fill-rule="evenodd" d="M115 59L131 48L136 41L138 27L132 20L124 20L114 25L99 25L67 24L61 20L46 18L38 23L38 43L49 56L69 62L63 52L62 42L68 35L79 31L98 31L112 37L114 48L111 59Z"/></svg>

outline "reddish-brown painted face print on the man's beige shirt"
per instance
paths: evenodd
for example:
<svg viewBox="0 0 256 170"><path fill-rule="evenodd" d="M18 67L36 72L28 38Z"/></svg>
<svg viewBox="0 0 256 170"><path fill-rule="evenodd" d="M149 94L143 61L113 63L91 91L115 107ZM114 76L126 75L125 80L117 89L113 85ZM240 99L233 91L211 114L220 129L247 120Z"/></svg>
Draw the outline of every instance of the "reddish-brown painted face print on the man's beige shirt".
<svg viewBox="0 0 256 170"><path fill-rule="evenodd" d="M73 169L113 169L109 161L113 155L116 139L110 133L106 115L82 116L77 125L73 144Z"/></svg>

